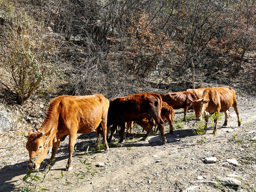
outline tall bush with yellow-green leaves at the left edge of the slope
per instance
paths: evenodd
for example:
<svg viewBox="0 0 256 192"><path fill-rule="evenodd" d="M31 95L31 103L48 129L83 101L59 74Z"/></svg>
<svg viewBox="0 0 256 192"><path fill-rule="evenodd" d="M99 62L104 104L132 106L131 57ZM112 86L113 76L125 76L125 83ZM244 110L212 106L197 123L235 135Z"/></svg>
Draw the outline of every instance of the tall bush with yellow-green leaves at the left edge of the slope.
<svg viewBox="0 0 256 192"><path fill-rule="evenodd" d="M43 37L44 26L38 26L25 11L15 10L9 15L5 27L0 28L3 34L0 67L10 75L11 81L1 83L17 94L18 102L23 105L50 74L54 45L50 38Z"/></svg>

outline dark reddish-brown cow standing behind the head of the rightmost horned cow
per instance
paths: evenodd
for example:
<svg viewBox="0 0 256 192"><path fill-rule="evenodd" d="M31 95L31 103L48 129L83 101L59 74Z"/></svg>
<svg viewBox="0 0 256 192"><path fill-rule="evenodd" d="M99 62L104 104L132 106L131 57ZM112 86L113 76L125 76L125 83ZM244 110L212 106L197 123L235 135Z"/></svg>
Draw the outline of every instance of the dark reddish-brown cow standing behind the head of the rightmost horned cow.
<svg viewBox="0 0 256 192"><path fill-rule="evenodd" d="M184 121L186 121L186 114L188 108L192 106L190 100L198 99L194 93L188 91L174 92L174 93L164 93L161 95L164 102L173 109L184 108Z"/></svg>

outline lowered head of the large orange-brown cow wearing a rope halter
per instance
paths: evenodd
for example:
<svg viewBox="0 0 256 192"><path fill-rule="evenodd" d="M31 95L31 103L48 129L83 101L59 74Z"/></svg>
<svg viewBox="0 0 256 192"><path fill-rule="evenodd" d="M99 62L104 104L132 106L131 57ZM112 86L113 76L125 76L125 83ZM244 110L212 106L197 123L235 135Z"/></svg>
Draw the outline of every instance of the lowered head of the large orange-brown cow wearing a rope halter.
<svg viewBox="0 0 256 192"><path fill-rule="evenodd" d="M49 143L43 132L30 130L26 137L28 138L26 148L29 153L29 163L27 167L30 171L36 171L47 155Z"/></svg>

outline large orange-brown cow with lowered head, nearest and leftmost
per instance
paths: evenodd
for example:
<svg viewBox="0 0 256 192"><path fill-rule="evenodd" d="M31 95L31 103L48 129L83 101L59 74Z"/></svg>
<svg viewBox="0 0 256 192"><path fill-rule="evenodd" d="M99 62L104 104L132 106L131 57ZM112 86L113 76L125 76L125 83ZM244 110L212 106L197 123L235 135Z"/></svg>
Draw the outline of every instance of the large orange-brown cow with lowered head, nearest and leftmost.
<svg viewBox="0 0 256 192"><path fill-rule="evenodd" d="M69 135L69 158L66 170L70 171L73 168L72 154L77 133L97 131L99 124L103 127L103 137L106 150L108 150L108 107L108 99L101 94L87 96L62 95L54 98L50 103L39 132L30 130L28 133L26 144L29 151L28 169L33 171L39 169L50 146L52 146L52 156L49 161L51 165L60 141L63 141ZM96 145L98 145L98 139Z"/></svg>

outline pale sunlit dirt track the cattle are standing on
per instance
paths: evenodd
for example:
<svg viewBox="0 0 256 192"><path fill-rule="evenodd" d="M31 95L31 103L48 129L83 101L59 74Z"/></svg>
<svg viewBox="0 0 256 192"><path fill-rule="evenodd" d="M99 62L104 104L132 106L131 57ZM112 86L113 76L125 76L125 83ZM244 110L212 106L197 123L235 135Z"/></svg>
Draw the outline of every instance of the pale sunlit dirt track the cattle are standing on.
<svg viewBox="0 0 256 192"><path fill-rule="evenodd" d="M28 163L26 138L15 131L1 132L0 191L256 191L256 145L251 140L256 136L256 132L252 133L256 131L256 99L246 95L237 95L237 99L241 127L237 127L237 117L231 108L228 127L218 126L215 135L210 127L205 134L197 134L192 127L194 119L178 121L183 113L175 110L177 129L170 135L166 124L166 145L162 145L158 133L140 141L145 132L138 127L134 137L122 145L115 144L119 138L115 134L108 152L102 149L91 153L95 132L81 134L76 141L73 170L65 171L66 138L52 170L40 170L37 179L31 181L30 177L27 182L22 181ZM193 112L188 116L193 116ZM218 125L222 123L223 118ZM217 162L205 163L207 157L216 157ZM227 162L232 158L238 165ZM227 185L222 182L226 177L241 184Z"/></svg>

